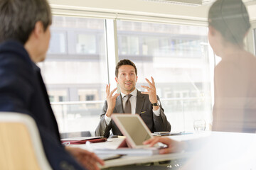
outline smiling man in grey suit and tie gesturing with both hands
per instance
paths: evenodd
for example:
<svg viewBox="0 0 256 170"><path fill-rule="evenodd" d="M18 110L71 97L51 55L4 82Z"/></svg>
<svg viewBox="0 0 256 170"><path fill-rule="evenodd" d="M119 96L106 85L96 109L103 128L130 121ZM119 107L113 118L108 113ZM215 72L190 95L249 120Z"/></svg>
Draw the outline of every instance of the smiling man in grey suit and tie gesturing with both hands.
<svg viewBox="0 0 256 170"><path fill-rule="evenodd" d="M115 69L115 81L119 84L121 94L114 94L115 88L110 92L110 84L106 87L107 101L103 106L100 123L95 131L96 136L122 135L111 119L112 113L139 114L151 132L171 131L171 125L164 115L159 97L156 96L156 86L153 77L151 82L146 79L149 86L142 86L147 92L136 89L137 68L130 60L121 60ZM114 94L114 96L113 96Z"/></svg>

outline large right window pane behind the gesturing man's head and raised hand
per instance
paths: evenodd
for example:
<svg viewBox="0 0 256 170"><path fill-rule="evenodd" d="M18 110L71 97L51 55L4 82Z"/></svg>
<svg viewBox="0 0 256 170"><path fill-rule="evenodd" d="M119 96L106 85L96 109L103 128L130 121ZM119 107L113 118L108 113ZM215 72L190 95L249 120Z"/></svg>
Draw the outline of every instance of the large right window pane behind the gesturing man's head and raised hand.
<svg viewBox="0 0 256 170"><path fill-rule="evenodd" d="M119 60L138 69L137 88L154 77L156 92L173 131L211 121L207 27L117 21Z"/></svg>

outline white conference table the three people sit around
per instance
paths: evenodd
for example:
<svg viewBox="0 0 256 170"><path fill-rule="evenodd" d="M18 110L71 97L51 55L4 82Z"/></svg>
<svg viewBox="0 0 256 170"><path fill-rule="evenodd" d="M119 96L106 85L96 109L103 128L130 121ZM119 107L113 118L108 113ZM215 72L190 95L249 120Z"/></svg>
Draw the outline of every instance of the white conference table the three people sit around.
<svg viewBox="0 0 256 170"><path fill-rule="evenodd" d="M169 137L178 141L193 140L198 137L206 137L208 140L196 152L156 154L151 156L123 156L119 159L106 161L105 166L100 166L100 168L105 169L114 166L188 159L186 164L183 164L183 167L190 170L256 169L256 134L201 132ZM93 149L116 149L122 140L123 138L113 138L107 142L73 146L93 152Z"/></svg>

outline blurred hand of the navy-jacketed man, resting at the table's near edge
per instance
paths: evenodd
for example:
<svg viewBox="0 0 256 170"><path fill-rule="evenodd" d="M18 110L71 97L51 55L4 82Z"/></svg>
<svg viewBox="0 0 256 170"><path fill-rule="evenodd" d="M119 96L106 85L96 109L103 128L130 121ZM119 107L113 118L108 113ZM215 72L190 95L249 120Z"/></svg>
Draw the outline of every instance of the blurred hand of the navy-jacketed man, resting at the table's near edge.
<svg viewBox="0 0 256 170"><path fill-rule="evenodd" d="M65 147L65 149L77 159L77 161L89 170L100 170L97 163L104 165L104 161L98 158L95 153L89 152L78 147Z"/></svg>

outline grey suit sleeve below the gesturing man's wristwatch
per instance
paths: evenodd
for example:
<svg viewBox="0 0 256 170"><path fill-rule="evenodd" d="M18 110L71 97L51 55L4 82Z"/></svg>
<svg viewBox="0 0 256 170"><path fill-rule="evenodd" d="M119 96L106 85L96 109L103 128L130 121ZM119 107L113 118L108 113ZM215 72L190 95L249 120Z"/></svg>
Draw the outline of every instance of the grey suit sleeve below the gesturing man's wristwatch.
<svg viewBox="0 0 256 170"><path fill-rule="evenodd" d="M160 101L159 96L157 96L157 100ZM161 102L160 102L160 115L156 116L153 113L153 118L154 118L154 132L161 132L161 131L171 132L171 124L169 123L169 121L166 118L166 115L164 114L164 108L162 108Z"/></svg>

